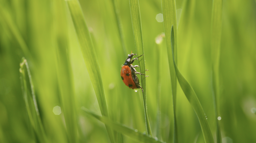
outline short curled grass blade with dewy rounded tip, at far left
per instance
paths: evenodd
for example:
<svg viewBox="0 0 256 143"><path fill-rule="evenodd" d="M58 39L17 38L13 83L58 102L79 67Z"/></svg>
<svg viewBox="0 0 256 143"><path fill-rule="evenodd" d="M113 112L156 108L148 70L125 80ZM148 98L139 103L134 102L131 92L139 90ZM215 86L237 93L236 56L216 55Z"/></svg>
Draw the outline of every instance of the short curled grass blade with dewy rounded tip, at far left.
<svg viewBox="0 0 256 143"><path fill-rule="evenodd" d="M36 137L40 140L42 143L47 143L48 139L45 134L45 129L43 128L43 124L40 118L39 110L37 107L37 101L36 101L36 95L34 92L34 85L32 82L32 77L30 74L30 70L28 67L28 62L27 60L23 57L21 59L20 65L20 79L21 79L21 89L22 89L22 94L25 100L25 105L28 113L28 118L30 120L30 123L33 127L33 130L36 133ZM27 82L28 78L28 82ZM28 83L30 84L30 90L28 89Z"/></svg>

